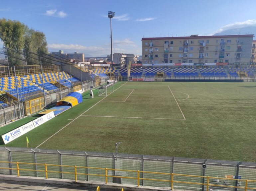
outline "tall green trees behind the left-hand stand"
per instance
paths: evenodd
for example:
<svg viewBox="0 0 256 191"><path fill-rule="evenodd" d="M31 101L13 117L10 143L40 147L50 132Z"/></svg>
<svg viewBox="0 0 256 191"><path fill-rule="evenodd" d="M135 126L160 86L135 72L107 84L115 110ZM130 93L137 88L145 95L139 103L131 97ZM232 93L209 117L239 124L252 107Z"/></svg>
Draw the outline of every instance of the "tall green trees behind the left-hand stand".
<svg viewBox="0 0 256 191"><path fill-rule="evenodd" d="M39 63L39 57L31 52L48 53L45 34L29 29L19 21L0 19L0 39L8 48L9 65L24 64L25 52L28 64Z"/></svg>

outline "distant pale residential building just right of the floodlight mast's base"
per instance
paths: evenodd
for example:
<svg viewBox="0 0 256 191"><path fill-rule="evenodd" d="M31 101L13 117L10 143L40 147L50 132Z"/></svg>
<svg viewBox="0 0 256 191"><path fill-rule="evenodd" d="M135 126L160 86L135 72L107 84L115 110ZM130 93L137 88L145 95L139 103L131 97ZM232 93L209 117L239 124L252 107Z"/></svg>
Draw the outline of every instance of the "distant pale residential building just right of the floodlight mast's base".
<svg viewBox="0 0 256 191"><path fill-rule="evenodd" d="M125 53L114 53L113 54L113 63L120 65L127 65L129 61L132 61L132 64L137 64L138 55L134 54L125 54ZM111 55L108 55L108 62L111 62Z"/></svg>

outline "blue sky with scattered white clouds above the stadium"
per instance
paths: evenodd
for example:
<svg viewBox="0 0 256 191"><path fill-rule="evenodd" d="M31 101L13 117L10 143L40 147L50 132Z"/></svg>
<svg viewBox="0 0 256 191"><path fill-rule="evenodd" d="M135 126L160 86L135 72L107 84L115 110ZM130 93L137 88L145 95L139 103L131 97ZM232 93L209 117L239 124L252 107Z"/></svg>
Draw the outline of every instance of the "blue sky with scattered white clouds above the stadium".
<svg viewBox="0 0 256 191"><path fill-rule="evenodd" d="M141 54L142 37L256 26L255 7L253 0L0 0L0 18L44 32L49 51L101 56L110 54L108 11L115 12L113 51Z"/></svg>

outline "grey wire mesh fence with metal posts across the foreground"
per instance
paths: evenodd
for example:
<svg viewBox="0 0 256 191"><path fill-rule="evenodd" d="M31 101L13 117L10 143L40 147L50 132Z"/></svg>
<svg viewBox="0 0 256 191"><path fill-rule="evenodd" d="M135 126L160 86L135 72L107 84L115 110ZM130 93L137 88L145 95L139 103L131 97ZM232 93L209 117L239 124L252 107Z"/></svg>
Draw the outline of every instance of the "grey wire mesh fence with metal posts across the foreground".
<svg viewBox="0 0 256 191"><path fill-rule="evenodd" d="M106 181L105 170L97 168L108 168L107 175L109 177L107 178L107 183L115 183L116 180L111 176L120 176L122 178L119 181L122 184L138 185L137 171L139 170L142 171L139 174L139 185L143 186L173 186L174 189L206 190L205 183L207 183L207 176L209 176L216 177L216 179L210 179L209 184L214 184L214 186L211 185L209 187L211 190L240 191L244 190L242 187L245 186L256 188L256 163L252 162L10 147L0 147L0 161L15 162L0 163L0 168L17 168L16 161L18 161L33 163L19 164L20 169L42 170L20 171L21 176L45 177L45 166L42 166L42 164L49 164L48 171L63 172L49 172L49 178L73 180L74 175L68 173L73 172L73 169L68 166L76 165L86 167L77 168L77 180L83 181L104 183ZM40 163L41 165L35 163ZM203 163L207 165L207 168L202 168ZM51 166L51 164L56 166ZM0 169L0 173L17 175L17 170ZM173 180L171 173L175 175ZM232 180L232 178L236 180ZM245 179L249 181L246 183ZM171 181L173 181L173 185L171 185Z"/></svg>

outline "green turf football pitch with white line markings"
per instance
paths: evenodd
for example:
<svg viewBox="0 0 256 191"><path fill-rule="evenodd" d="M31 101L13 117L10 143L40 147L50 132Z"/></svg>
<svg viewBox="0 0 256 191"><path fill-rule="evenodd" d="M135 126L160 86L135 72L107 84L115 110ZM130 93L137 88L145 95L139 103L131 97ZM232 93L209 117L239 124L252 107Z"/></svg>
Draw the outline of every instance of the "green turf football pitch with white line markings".
<svg viewBox="0 0 256 191"><path fill-rule="evenodd" d="M256 83L119 82L6 146L28 136L35 148L64 127L39 148L115 152L122 142L120 153L256 162L255 95Z"/></svg>

